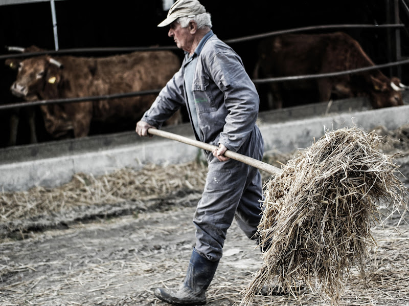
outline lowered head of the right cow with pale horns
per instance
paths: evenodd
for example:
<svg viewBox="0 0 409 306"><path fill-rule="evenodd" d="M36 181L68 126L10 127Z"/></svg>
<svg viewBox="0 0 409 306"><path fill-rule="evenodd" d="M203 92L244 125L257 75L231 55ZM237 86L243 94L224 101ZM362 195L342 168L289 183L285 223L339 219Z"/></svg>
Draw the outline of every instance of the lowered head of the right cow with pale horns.
<svg viewBox="0 0 409 306"><path fill-rule="evenodd" d="M403 105L401 91L404 90L404 85L399 79L384 81L371 76L371 81L373 85L371 103L374 108Z"/></svg>

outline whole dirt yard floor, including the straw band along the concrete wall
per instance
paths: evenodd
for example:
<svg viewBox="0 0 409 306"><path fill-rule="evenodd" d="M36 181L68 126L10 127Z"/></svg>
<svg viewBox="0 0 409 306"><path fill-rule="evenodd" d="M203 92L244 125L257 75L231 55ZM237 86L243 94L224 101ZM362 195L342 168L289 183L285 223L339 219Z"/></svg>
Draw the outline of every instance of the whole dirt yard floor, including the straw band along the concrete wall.
<svg viewBox="0 0 409 306"><path fill-rule="evenodd" d="M183 281L195 242L193 213L206 173L204 166L185 166L191 173L171 167L146 170L147 177L158 171L169 185L169 189L158 187L165 185L159 179L151 183L156 184L156 189L152 187L156 196L143 187L144 195L125 191L135 189L134 178L113 190L109 178L93 183L94 178L87 176L78 176L58 190L0 193L0 304L165 305L153 296L152 288ZM406 168L402 170L407 174ZM167 171L176 173L172 177ZM145 174L134 176L146 183ZM79 197L74 189L92 196ZM341 304L409 305L409 225L402 221L396 230L398 220L373 226L378 248L370 251L366 263L368 286L352 269ZM208 304L238 305L240 292L261 266L261 252L235 222L223 250L207 293ZM306 290L298 299L285 295L255 299L255 305L300 303L329 304L314 290Z"/></svg>

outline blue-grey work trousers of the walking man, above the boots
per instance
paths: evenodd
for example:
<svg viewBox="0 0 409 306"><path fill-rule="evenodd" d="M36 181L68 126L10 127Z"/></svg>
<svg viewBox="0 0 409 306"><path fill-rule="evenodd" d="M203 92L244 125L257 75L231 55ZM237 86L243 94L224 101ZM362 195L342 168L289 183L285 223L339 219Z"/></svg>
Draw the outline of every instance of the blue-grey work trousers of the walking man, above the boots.
<svg viewBox="0 0 409 306"><path fill-rule="evenodd" d="M263 139L255 127L238 153L261 160L263 151ZM247 237L257 240L262 196L258 169L233 159L225 162L211 159L205 189L193 218L196 250L209 260L219 260L233 218Z"/></svg>

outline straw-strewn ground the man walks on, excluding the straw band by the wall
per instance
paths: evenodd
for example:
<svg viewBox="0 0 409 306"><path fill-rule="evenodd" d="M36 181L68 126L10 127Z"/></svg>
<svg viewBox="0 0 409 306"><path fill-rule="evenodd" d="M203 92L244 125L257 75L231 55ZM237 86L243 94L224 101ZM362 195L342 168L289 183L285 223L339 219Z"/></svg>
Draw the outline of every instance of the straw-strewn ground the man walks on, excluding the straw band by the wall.
<svg viewBox="0 0 409 306"><path fill-rule="evenodd" d="M38 233L26 241L0 244L0 304L8 306L165 306L153 295L157 286L183 282L195 241L194 207L142 212ZM407 224L403 224L408 229ZM345 281L345 306L407 306L409 232L393 225L373 229L379 249L367 258L367 282L353 270ZM209 306L238 305L240 291L261 265L260 251L232 224L215 278ZM4 273L3 273L4 272ZM256 296L254 305L328 306L313 291Z"/></svg>

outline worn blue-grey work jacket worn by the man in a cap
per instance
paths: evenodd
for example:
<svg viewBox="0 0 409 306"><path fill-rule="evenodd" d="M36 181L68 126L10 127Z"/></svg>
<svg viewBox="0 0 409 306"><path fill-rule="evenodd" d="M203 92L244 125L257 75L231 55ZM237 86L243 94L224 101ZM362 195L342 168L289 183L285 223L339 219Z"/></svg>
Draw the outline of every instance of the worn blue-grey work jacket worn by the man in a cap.
<svg viewBox="0 0 409 306"><path fill-rule="evenodd" d="M210 34L203 48L198 50L193 77L193 96L200 135L196 139L218 146L223 144L237 151L253 129L257 129L259 96L241 58ZM160 128L162 123L187 103L184 88L184 66L166 84L142 120ZM190 120L192 122L192 119Z"/></svg>

